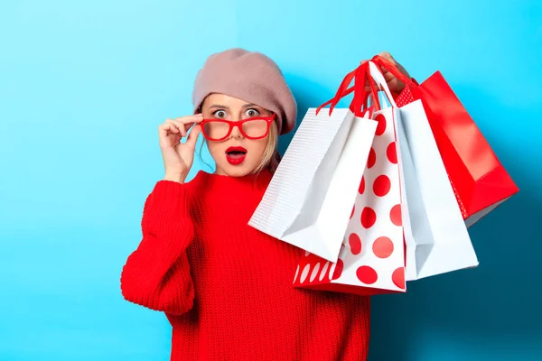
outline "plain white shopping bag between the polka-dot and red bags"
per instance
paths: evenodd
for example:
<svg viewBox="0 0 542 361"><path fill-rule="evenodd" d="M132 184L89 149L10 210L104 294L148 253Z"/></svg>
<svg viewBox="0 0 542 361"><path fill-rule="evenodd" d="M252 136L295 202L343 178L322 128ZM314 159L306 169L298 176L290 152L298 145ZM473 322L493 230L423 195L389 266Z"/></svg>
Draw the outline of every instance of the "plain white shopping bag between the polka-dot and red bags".
<svg viewBox="0 0 542 361"><path fill-rule="evenodd" d="M397 106L374 63L371 76ZM461 209L420 100L397 109L406 281L478 265Z"/></svg>

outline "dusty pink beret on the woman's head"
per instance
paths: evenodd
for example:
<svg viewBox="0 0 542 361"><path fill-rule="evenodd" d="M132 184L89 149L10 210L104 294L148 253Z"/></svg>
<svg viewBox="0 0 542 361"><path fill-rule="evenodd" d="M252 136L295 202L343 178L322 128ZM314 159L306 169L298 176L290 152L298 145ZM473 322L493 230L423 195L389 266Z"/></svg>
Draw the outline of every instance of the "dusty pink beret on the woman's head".
<svg viewBox="0 0 542 361"><path fill-rule="evenodd" d="M211 93L237 97L276 114L279 134L294 129L297 105L282 71L259 52L230 49L210 55L196 76L194 113Z"/></svg>

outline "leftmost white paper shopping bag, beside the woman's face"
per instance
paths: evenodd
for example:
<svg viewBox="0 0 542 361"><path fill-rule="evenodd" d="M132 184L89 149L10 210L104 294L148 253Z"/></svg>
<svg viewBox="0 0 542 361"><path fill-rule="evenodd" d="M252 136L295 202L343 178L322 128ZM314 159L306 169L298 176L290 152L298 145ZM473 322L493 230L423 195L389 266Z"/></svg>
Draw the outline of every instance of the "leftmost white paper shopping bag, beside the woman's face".
<svg viewBox="0 0 542 361"><path fill-rule="evenodd" d="M376 128L310 108L248 225L336 262Z"/></svg>

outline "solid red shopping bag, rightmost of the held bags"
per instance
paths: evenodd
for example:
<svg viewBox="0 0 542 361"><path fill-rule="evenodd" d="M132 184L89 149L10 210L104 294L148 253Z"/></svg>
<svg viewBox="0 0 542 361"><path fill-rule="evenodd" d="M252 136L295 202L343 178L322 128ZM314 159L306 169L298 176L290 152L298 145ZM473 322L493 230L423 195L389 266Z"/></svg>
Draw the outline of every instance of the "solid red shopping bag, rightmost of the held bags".
<svg viewBox="0 0 542 361"><path fill-rule="evenodd" d="M373 60L406 83L398 106L422 101L467 227L519 191L439 71L417 85L388 60Z"/></svg>

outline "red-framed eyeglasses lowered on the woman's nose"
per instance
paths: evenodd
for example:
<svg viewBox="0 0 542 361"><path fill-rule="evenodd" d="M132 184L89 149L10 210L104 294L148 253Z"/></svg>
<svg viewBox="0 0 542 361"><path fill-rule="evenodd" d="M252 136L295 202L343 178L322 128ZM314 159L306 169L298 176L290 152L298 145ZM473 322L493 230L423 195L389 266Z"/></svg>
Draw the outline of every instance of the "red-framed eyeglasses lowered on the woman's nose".
<svg viewBox="0 0 542 361"><path fill-rule="evenodd" d="M203 119L200 123L203 136L210 141L220 142L229 137L234 126L245 138L262 139L269 134L269 126L275 121L273 116L257 116L237 122L227 119Z"/></svg>

